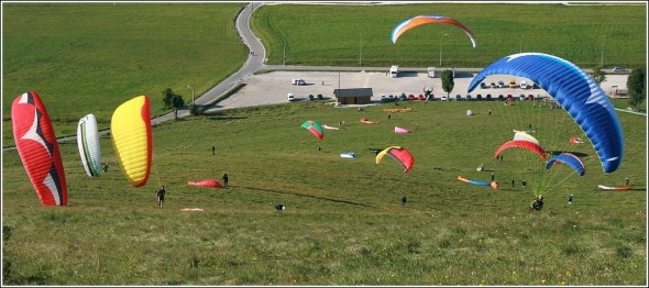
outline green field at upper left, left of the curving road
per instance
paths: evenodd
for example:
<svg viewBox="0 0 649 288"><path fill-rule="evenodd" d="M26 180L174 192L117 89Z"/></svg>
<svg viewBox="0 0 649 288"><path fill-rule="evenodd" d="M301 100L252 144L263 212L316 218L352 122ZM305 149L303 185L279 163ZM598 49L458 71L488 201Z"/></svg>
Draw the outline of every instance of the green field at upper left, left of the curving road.
<svg viewBox="0 0 649 288"><path fill-rule="evenodd" d="M234 19L243 3L2 3L3 145L13 145L11 103L35 90L57 136L140 95L161 115L163 90L191 101L239 69L248 48Z"/></svg>

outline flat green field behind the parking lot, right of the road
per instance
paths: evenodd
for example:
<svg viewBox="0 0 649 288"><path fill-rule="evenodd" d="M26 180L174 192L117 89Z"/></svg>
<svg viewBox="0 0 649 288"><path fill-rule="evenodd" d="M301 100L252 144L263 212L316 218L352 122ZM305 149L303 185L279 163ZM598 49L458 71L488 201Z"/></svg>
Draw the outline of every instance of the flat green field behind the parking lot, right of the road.
<svg viewBox="0 0 649 288"><path fill-rule="evenodd" d="M283 4L260 8L252 23L270 52L268 64L282 64L286 53L287 65L359 66L361 58L371 67L485 67L522 51L557 55L584 68L600 66L604 53L603 66L610 68L645 66L646 13L647 5ZM449 24L413 29L393 44L393 29L420 14L460 21L475 35L476 47Z"/></svg>

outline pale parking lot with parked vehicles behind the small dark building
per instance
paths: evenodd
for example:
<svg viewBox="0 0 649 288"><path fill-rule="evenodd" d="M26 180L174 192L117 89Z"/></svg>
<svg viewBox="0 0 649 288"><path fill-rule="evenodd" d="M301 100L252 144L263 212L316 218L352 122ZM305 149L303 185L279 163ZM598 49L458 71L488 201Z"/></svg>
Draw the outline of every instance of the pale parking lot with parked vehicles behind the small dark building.
<svg viewBox="0 0 649 288"><path fill-rule="evenodd" d="M466 88L473 79L473 73L458 73L454 79L454 88L450 93L450 100L454 100L457 95L466 97ZM293 85L292 79L304 79L306 85ZM497 75L490 76L484 81L491 82L504 81L508 84L514 79L516 84L528 79ZM607 80L602 84L605 92L612 91L614 87L626 88L627 75L608 75ZM429 78L426 73L400 73L397 78L389 77L386 73L377 71L271 71L266 74L252 75L245 81L245 86L228 99L221 101L217 109L229 109L239 107L253 107L263 104L286 103L287 95L293 93L297 100L306 100L309 95L322 95L324 99L333 101L333 89L338 88L372 88L372 102L378 103L382 96L399 96L402 93L414 95L418 97L424 95L424 89L432 89L436 100L439 100L447 93L442 90L440 78ZM613 87L613 88L612 88ZM477 87L471 96L473 99L477 95L483 99L491 93L493 98L499 95L512 95L518 97L520 93L532 95L534 97L549 97L543 89L521 89L521 88L481 88Z"/></svg>

